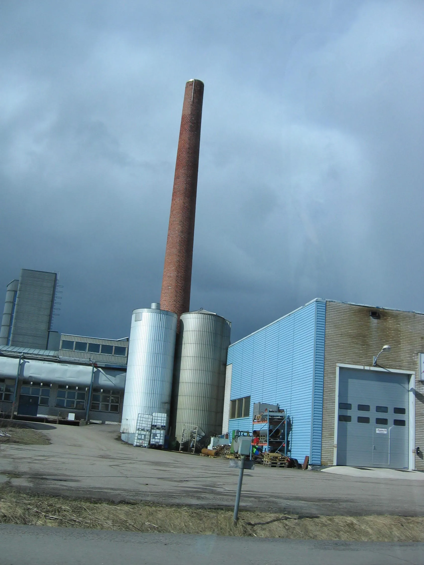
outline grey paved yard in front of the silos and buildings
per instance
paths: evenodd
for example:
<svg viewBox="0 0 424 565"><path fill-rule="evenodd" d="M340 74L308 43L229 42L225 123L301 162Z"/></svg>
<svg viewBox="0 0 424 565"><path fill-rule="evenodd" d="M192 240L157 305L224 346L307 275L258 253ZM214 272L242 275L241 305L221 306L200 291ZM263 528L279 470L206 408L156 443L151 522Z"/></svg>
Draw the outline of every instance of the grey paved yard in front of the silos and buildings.
<svg viewBox="0 0 424 565"><path fill-rule="evenodd" d="M113 501L233 505L238 471L228 468L228 459L132 447L116 439L119 427L114 425L34 427L51 444L3 445L0 482ZM358 471L256 466L245 472L241 507L304 515L424 516L424 473Z"/></svg>

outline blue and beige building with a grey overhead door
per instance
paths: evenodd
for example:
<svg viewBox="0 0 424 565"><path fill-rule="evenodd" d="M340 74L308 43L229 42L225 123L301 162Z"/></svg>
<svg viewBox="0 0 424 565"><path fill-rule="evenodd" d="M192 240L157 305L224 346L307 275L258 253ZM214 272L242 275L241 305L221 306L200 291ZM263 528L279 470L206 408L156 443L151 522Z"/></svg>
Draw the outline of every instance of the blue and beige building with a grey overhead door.
<svg viewBox="0 0 424 565"><path fill-rule="evenodd" d="M226 374L223 432L284 410L288 437L268 428L271 449L424 470L424 314L317 298L230 345Z"/></svg>

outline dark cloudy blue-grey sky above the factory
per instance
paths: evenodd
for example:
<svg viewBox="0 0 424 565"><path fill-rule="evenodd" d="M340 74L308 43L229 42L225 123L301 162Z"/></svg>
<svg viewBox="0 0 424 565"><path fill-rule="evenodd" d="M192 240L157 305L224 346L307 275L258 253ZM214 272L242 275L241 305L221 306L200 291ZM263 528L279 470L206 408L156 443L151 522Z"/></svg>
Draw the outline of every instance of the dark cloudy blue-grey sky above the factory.
<svg viewBox="0 0 424 565"><path fill-rule="evenodd" d="M424 3L2 0L0 294L60 332L159 301L185 82L205 83L191 310L232 342L315 297L424 312Z"/></svg>

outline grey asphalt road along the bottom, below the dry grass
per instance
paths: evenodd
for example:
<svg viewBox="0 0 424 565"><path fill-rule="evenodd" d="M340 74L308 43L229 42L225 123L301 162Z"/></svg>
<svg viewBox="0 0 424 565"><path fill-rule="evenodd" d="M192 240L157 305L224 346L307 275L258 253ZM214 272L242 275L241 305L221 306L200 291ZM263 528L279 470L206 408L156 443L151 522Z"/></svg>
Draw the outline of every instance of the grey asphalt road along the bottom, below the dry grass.
<svg viewBox="0 0 424 565"><path fill-rule="evenodd" d="M0 565L394 565L424 544L267 540L0 525Z"/></svg>

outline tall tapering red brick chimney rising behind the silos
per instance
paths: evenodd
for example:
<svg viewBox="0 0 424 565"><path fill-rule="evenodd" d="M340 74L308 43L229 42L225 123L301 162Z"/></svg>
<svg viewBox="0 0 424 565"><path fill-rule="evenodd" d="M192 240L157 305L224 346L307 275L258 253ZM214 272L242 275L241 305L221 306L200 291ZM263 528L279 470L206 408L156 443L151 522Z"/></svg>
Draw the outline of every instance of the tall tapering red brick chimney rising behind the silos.
<svg viewBox="0 0 424 565"><path fill-rule="evenodd" d="M161 310L178 315L178 329L180 315L190 309L203 90L203 82L197 79L185 85L163 267Z"/></svg>

